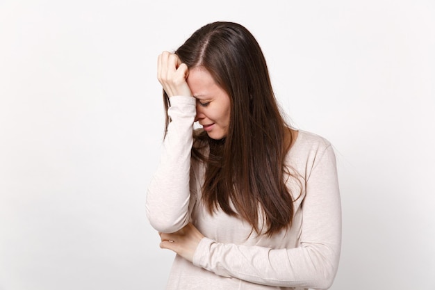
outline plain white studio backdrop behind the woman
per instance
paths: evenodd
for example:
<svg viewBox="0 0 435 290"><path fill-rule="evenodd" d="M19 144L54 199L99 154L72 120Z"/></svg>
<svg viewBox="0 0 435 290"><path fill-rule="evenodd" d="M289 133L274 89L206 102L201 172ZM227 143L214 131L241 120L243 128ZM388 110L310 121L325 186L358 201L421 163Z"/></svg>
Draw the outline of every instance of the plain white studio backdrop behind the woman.
<svg viewBox="0 0 435 290"><path fill-rule="evenodd" d="M434 290L429 0L0 0L0 290L164 289L156 58L216 20L252 31L295 127L336 148L331 289Z"/></svg>

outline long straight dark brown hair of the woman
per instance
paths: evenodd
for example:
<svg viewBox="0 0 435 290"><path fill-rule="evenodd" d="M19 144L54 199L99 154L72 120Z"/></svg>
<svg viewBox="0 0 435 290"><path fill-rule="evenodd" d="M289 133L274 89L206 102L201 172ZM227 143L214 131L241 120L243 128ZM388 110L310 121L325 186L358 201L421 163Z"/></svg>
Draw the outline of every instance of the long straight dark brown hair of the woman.
<svg viewBox="0 0 435 290"><path fill-rule="evenodd" d="M213 22L195 31L175 54L189 69L208 70L231 102L227 136L213 140L202 131L195 134L195 144L206 144L209 154L192 148L192 156L206 162L202 198L208 211L220 207L239 215L257 234L290 227L293 200L284 176L291 134L258 42L240 24ZM166 111L168 106L165 95Z"/></svg>

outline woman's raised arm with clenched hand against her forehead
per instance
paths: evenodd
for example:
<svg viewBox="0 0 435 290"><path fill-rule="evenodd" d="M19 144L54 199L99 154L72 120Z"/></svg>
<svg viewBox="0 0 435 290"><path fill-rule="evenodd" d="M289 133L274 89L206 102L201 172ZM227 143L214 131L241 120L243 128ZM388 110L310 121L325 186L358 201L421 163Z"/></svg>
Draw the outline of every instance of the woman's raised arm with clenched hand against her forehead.
<svg viewBox="0 0 435 290"><path fill-rule="evenodd" d="M149 222L159 232L177 232L190 217L190 150L196 102L187 76L188 67L177 55L163 51L158 56L157 79L170 97L167 115L171 122L161 161L148 187L146 211Z"/></svg>

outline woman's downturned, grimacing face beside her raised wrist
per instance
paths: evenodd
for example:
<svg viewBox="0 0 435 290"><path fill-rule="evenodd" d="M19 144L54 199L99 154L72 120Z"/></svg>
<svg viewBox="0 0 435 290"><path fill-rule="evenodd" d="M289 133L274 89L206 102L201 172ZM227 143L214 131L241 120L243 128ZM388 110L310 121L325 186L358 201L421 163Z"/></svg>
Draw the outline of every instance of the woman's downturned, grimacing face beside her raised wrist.
<svg viewBox="0 0 435 290"><path fill-rule="evenodd" d="M202 125L212 139L219 140L227 136L231 107L227 92L217 86L211 74L202 67L189 70L187 83L197 99L195 121Z"/></svg>

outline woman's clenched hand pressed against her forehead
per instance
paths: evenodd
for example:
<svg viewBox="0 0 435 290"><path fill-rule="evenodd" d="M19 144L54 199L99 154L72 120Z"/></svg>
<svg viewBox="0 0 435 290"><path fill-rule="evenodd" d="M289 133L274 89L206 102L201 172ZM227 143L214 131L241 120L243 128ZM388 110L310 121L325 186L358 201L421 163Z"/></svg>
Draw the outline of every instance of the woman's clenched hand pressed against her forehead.
<svg viewBox="0 0 435 290"><path fill-rule="evenodd" d="M160 81L168 97L192 96L186 79L189 70L185 63L181 63L177 54L163 51L158 56L157 79Z"/></svg>

